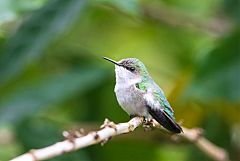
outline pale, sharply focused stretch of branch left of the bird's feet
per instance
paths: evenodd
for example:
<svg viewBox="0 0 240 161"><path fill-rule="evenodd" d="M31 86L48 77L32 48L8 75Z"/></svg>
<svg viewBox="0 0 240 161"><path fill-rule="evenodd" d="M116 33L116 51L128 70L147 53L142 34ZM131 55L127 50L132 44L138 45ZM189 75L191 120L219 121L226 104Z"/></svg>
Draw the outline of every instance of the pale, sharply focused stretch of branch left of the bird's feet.
<svg viewBox="0 0 240 161"><path fill-rule="evenodd" d="M135 117L127 123L120 123L117 125L105 121L103 129L99 131L90 132L83 137L67 139L43 149L31 150L11 161L38 161L50 159L64 153L98 144L116 135L132 132L135 128L140 126L142 122L143 118L141 117Z"/></svg>

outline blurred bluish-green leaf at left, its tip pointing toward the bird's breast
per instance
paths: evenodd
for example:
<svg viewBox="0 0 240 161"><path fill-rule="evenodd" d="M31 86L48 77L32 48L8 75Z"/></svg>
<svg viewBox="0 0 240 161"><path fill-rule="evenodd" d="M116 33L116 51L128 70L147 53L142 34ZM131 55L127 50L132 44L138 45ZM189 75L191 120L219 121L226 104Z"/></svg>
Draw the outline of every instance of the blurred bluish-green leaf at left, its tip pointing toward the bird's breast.
<svg viewBox="0 0 240 161"><path fill-rule="evenodd" d="M82 94L99 86L105 77L105 71L96 67L85 67L46 76L35 85L13 91L8 98L2 96L0 122L18 122L50 105L61 103L76 94Z"/></svg>

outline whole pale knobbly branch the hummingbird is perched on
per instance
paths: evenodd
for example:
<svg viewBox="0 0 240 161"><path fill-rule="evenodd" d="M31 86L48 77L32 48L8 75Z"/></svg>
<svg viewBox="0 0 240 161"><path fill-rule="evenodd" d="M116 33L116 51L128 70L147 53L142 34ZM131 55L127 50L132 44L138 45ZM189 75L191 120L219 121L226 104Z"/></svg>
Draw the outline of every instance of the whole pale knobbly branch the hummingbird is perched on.
<svg viewBox="0 0 240 161"><path fill-rule="evenodd" d="M101 129L98 131L92 131L86 135L83 134L82 131L75 133L75 135L72 135L69 132L64 132L63 134L67 138L66 140L42 149L31 150L11 161L46 160L94 144L106 143L113 136L134 131L137 127L143 124L143 121L144 119L142 117L135 117L129 122L114 124L106 119L101 126ZM153 127L162 129L156 121L153 121ZM174 136L176 136L176 138L184 138L189 142L194 143L202 152L216 161L229 161L228 153L204 138L201 135L201 130L183 128L183 131L184 133Z"/></svg>

